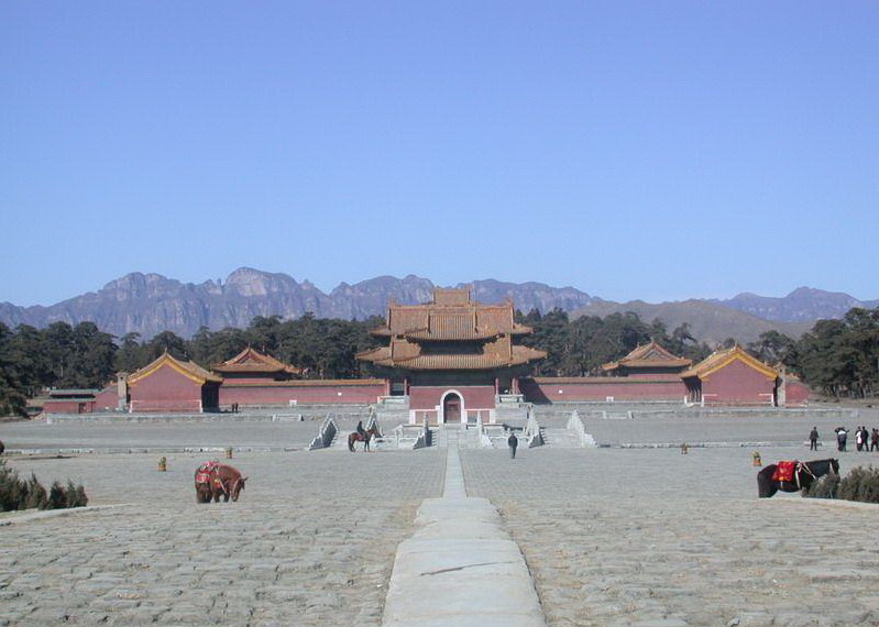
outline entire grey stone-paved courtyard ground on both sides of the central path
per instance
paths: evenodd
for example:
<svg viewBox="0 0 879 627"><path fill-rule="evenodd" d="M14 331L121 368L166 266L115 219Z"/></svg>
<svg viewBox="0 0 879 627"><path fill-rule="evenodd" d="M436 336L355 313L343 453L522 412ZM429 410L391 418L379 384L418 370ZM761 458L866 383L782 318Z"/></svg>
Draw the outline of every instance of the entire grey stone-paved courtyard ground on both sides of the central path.
<svg viewBox="0 0 879 627"><path fill-rule="evenodd" d="M784 446L810 422L606 420L619 441L716 433L727 446L688 455L547 447L520 449L516 460L462 450L461 460L469 495L501 508L549 625L879 625L879 509L790 494L758 499L752 448L736 443L774 439L767 463L837 455ZM21 433L59 443L274 446L305 442L314 430L12 427L0 425L12 446ZM207 506L193 490L205 454L167 453L166 473L156 454L10 457L43 483L84 483L92 505L128 505L41 520L0 514L0 525L18 520L0 526L0 625L378 625L396 546L421 501L441 494L444 453L237 453L231 463L250 476L241 501ZM843 473L879 465L876 453L838 457Z"/></svg>

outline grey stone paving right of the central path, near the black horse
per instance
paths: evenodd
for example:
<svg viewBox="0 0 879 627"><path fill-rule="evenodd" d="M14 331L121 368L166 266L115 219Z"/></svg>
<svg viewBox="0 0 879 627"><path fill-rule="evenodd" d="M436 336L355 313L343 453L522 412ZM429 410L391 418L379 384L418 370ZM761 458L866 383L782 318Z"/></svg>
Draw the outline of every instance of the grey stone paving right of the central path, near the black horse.
<svg viewBox="0 0 879 627"><path fill-rule="evenodd" d="M869 459L840 458L843 474ZM501 508L523 549L548 625L879 625L879 506L758 499L749 450L461 459L468 493Z"/></svg>

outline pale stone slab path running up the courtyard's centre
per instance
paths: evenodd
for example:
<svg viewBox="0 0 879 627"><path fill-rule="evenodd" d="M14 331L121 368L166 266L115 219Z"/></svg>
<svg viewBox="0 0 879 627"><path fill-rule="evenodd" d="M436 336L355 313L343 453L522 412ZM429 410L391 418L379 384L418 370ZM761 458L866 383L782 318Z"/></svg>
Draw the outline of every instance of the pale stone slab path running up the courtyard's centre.
<svg viewBox="0 0 879 627"><path fill-rule="evenodd" d="M454 440L443 496L424 501L416 525L397 548L383 625L546 625L525 558L497 509L466 496Z"/></svg>

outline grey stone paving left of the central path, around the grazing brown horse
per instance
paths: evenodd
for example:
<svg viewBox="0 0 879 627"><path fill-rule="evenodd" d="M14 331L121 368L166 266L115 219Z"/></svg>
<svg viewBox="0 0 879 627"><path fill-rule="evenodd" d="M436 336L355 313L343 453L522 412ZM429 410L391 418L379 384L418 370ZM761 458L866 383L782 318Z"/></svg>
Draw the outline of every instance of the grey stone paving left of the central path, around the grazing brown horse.
<svg viewBox="0 0 879 627"><path fill-rule="evenodd" d="M241 499L210 505L195 503L200 461L10 459L43 483L81 481L90 505L130 505L0 527L0 625L378 625L444 454L241 455Z"/></svg>

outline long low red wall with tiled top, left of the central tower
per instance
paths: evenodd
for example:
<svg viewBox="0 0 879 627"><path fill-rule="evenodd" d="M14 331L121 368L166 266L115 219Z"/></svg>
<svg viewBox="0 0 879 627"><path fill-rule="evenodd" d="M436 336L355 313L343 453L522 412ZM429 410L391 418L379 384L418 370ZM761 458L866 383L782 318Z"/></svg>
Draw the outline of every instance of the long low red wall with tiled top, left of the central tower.
<svg viewBox="0 0 879 627"><path fill-rule="evenodd" d="M249 405L284 405L290 400L297 403L314 403L319 405L330 404L370 404L378 400L385 394L384 381L316 381L315 383L297 382L235 385L224 382L220 386L220 405L228 406L238 403L242 407Z"/></svg>

